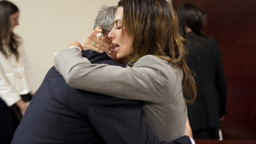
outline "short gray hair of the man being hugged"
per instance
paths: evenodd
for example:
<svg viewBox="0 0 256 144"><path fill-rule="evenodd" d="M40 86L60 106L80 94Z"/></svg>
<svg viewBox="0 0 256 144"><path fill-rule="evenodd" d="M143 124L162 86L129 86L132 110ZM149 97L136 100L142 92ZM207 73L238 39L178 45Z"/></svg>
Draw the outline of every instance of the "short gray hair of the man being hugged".
<svg viewBox="0 0 256 144"><path fill-rule="evenodd" d="M110 32L113 28L113 21L117 8L118 6L103 5L96 16L94 29L96 29L97 26L101 26L103 31L106 30Z"/></svg>

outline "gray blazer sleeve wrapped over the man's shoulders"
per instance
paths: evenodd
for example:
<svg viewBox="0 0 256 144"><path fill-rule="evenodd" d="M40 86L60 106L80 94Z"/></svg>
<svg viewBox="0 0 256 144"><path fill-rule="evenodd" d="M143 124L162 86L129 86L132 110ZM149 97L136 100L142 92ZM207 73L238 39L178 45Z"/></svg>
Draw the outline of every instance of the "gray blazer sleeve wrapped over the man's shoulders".
<svg viewBox="0 0 256 144"><path fill-rule="evenodd" d="M133 68L91 64L77 48L70 48L55 56L55 68L68 85L77 89L122 99L161 101L168 85L166 65L154 56L140 60L143 62Z"/></svg>

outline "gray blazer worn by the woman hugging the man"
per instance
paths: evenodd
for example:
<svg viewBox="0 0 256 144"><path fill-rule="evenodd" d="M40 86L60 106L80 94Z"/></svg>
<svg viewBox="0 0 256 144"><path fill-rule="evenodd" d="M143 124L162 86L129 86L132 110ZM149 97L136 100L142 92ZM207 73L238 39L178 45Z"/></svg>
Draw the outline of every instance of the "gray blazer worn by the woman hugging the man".
<svg viewBox="0 0 256 144"><path fill-rule="evenodd" d="M144 101L148 124L160 141L171 142L184 135L187 106L180 68L151 55L140 58L132 68L91 64L77 48L58 53L55 68L71 87Z"/></svg>

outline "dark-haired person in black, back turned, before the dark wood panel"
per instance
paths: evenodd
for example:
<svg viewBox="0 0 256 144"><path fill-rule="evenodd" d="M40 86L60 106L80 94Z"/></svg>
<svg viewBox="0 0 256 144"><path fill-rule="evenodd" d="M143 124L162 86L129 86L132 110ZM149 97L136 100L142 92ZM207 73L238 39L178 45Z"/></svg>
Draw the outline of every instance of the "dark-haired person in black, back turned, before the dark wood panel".
<svg viewBox="0 0 256 144"><path fill-rule="evenodd" d="M178 9L180 32L188 39L187 64L195 72L197 97L188 106L194 139L219 139L224 120L226 83L222 58L215 40L203 35L207 14L192 4Z"/></svg>

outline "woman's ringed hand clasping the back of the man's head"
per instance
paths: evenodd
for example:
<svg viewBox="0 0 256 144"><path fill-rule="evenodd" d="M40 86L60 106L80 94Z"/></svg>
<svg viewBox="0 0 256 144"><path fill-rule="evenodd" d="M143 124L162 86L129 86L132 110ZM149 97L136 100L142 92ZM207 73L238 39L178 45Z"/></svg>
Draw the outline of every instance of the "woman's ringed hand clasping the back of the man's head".
<svg viewBox="0 0 256 144"><path fill-rule="evenodd" d="M83 50L94 50L98 53L107 53L111 54L114 52L113 44L112 42L104 35L100 37L100 39L97 38L97 34L99 32L103 32L102 28L98 26L85 40L83 43ZM95 46L94 43L96 42Z"/></svg>

